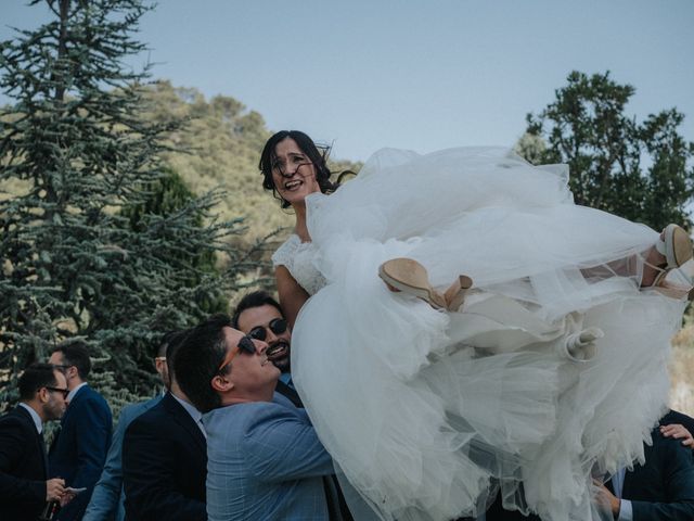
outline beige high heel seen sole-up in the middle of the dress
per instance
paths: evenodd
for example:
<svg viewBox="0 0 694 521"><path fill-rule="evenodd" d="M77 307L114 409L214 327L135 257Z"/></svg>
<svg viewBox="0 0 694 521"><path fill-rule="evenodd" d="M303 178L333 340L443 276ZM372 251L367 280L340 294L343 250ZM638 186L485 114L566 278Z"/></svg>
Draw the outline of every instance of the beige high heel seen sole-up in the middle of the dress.
<svg viewBox="0 0 694 521"><path fill-rule="evenodd" d="M378 267L378 277L390 291L402 291L426 301L436 309L457 312L463 305L465 293L472 288L473 280L459 276L446 293L440 294L429 283L426 268L412 258L391 258Z"/></svg>

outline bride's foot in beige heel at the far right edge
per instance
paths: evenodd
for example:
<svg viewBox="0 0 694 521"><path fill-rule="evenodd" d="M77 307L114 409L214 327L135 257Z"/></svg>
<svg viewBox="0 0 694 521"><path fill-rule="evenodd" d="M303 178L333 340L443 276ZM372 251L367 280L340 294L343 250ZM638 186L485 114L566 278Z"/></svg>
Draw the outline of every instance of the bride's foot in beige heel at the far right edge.
<svg viewBox="0 0 694 521"><path fill-rule="evenodd" d="M665 277L694 255L689 233L678 225L668 225L660 240L651 249L644 262L642 288L664 288Z"/></svg>

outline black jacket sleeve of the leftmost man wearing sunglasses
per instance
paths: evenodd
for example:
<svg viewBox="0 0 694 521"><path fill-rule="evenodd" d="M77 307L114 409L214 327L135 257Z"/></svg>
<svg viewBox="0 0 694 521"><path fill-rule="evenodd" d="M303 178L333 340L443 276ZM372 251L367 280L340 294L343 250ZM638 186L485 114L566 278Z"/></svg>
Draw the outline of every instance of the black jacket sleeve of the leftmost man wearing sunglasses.
<svg viewBox="0 0 694 521"><path fill-rule="evenodd" d="M5 418L0 429L0 500L42 503L46 482L16 478L10 472L20 465L27 449L27 432L18 419Z"/></svg>

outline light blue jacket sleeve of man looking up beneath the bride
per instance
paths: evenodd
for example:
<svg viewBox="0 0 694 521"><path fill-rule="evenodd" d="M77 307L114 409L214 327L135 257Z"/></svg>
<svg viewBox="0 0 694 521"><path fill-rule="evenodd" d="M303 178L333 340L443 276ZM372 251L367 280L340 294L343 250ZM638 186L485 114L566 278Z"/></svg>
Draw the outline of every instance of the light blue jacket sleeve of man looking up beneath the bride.
<svg viewBox="0 0 694 521"><path fill-rule="evenodd" d="M268 482L333 474L333 460L305 414L282 406L255 415L243 439L253 474Z"/></svg>

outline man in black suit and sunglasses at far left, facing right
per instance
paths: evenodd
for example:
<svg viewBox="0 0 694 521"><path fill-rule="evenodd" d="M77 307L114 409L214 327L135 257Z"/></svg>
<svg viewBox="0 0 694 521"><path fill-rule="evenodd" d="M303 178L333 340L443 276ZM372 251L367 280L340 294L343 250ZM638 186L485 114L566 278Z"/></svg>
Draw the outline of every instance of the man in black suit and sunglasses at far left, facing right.
<svg viewBox="0 0 694 521"><path fill-rule="evenodd" d="M47 501L59 501L65 481L48 479L43 423L65 411L67 382L53 366L35 364L20 377L20 405L0 418L2 519L36 521Z"/></svg>

